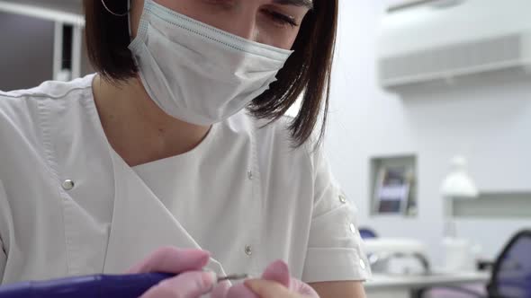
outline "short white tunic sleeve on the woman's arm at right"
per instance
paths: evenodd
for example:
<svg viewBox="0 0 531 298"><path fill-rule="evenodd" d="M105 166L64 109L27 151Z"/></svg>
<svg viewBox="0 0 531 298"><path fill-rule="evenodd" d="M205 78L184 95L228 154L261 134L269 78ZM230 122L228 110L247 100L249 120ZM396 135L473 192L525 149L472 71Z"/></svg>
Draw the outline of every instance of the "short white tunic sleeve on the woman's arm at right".
<svg viewBox="0 0 531 298"><path fill-rule="evenodd" d="M365 281L371 269L357 229L356 206L338 187L322 151L312 153L311 162L315 197L302 281Z"/></svg>

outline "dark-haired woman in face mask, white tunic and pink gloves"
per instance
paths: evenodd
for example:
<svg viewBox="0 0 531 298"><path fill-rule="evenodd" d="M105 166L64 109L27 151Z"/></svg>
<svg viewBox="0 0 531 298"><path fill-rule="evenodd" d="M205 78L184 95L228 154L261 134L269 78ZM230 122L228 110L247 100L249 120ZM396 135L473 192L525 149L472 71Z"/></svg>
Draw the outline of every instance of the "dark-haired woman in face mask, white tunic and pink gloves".
<svg viewBox="0 0 531 298"><path fill-rule="evenodd" d="M275 259L212 295L363 297L354 208L311 137L337 11L85 0L97 74L0 93L2 282L123 273L156 251L129 272L186 274L147 297L198 296L212 280L193 270L260 276Z"/></svg>

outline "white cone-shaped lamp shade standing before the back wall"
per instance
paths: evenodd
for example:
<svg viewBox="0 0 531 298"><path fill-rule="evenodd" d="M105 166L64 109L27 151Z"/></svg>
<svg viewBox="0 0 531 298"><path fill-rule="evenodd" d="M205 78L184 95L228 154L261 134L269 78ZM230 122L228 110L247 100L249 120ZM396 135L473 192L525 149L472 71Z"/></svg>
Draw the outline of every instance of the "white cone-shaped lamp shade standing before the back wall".
<svg viewBox="0 0 531 298"><path fill-rule="evenodd" d="M478 188L466 171L466 159L456 156L452 160L452 171L446 176L441 186L443 197L475 198L479 196Z"/></svg>

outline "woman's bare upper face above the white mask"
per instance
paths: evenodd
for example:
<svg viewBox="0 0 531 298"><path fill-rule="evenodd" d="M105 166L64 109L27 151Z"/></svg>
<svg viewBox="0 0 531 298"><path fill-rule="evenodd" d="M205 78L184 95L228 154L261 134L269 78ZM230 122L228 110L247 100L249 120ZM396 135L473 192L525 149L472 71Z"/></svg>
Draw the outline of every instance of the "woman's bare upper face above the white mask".
<svg viewBox="0 0 531 298"><path fill-rule="evenodd" d="M314 0L155 0L177 13L222 31L276 48L290 49ZM132 0L136 36L144 0Z"/></svg>

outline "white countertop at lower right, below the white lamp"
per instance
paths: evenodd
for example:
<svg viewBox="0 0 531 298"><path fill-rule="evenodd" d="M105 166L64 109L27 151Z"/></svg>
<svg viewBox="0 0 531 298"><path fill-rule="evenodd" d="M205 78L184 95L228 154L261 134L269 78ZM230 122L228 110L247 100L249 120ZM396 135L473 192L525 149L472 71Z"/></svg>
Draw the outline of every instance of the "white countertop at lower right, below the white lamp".
<svg viewBox="0 0 531 298"><path fill-rule="evenodd" d="M436 285L486 284L491 272L436 273L429 276L387 276L374 274L365 289L422 288Z"/></svg>

